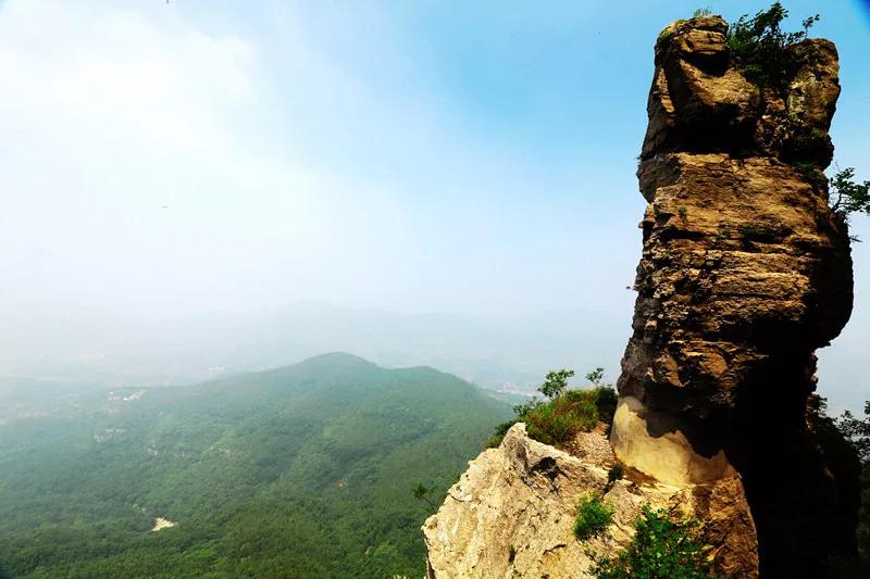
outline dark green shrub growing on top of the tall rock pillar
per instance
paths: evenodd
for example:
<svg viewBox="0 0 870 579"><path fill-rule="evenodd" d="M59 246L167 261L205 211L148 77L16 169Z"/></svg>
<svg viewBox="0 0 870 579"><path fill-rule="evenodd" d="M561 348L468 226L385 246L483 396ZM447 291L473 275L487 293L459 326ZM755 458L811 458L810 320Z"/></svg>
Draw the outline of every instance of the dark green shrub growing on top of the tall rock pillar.
<svg viewBox="0 0 870 579"><path fill-rule="evenodd" d="M780 2L751 18L744 14L729 27L728 43L731 54L743 74L760 87L785 89L786 83L811 58L810 51L794 47L809 36L809 29L819 21L812 15L803 21L803 29L783 32L781 24L788 11Z"/></svg>

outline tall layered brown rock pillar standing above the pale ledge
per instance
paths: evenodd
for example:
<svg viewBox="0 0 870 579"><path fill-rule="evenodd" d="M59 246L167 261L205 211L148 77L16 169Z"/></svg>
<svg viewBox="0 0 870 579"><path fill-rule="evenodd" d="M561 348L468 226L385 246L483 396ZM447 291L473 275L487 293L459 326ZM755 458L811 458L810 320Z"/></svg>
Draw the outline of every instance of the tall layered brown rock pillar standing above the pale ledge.
<svg viewBox="0 0 870 579"><path fill-rule="evenodd" d="M853 300L848 234L820 173L837 55L806 40L791 48L791 78L757 86L726 30L719 17L678 22L656 46L638 168L649 204L611 442L659 481L742 479L762 575L812 576L854 545L806 417L815 350Z"/></svg>

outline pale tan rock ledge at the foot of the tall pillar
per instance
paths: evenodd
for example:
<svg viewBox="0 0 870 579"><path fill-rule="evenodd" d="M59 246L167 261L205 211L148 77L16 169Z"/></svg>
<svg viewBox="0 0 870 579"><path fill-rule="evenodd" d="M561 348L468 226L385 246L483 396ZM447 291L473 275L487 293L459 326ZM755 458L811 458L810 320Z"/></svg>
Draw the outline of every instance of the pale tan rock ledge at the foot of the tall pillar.
<svg viewBox="0 0 870 579"><path fill-rule="evenodd" d="M614 458L600 431L581 435L572 448L583 457L530 439L518 424L498 449L472 461L423 527L430 579L591 577L594 558L629 544L642 504L705 521L701 536L722 568L757 576L755 528L736 477L672 486L629 476L604 495L614 512L606 533L577 541L577 502L605 489Z"/></svg>

